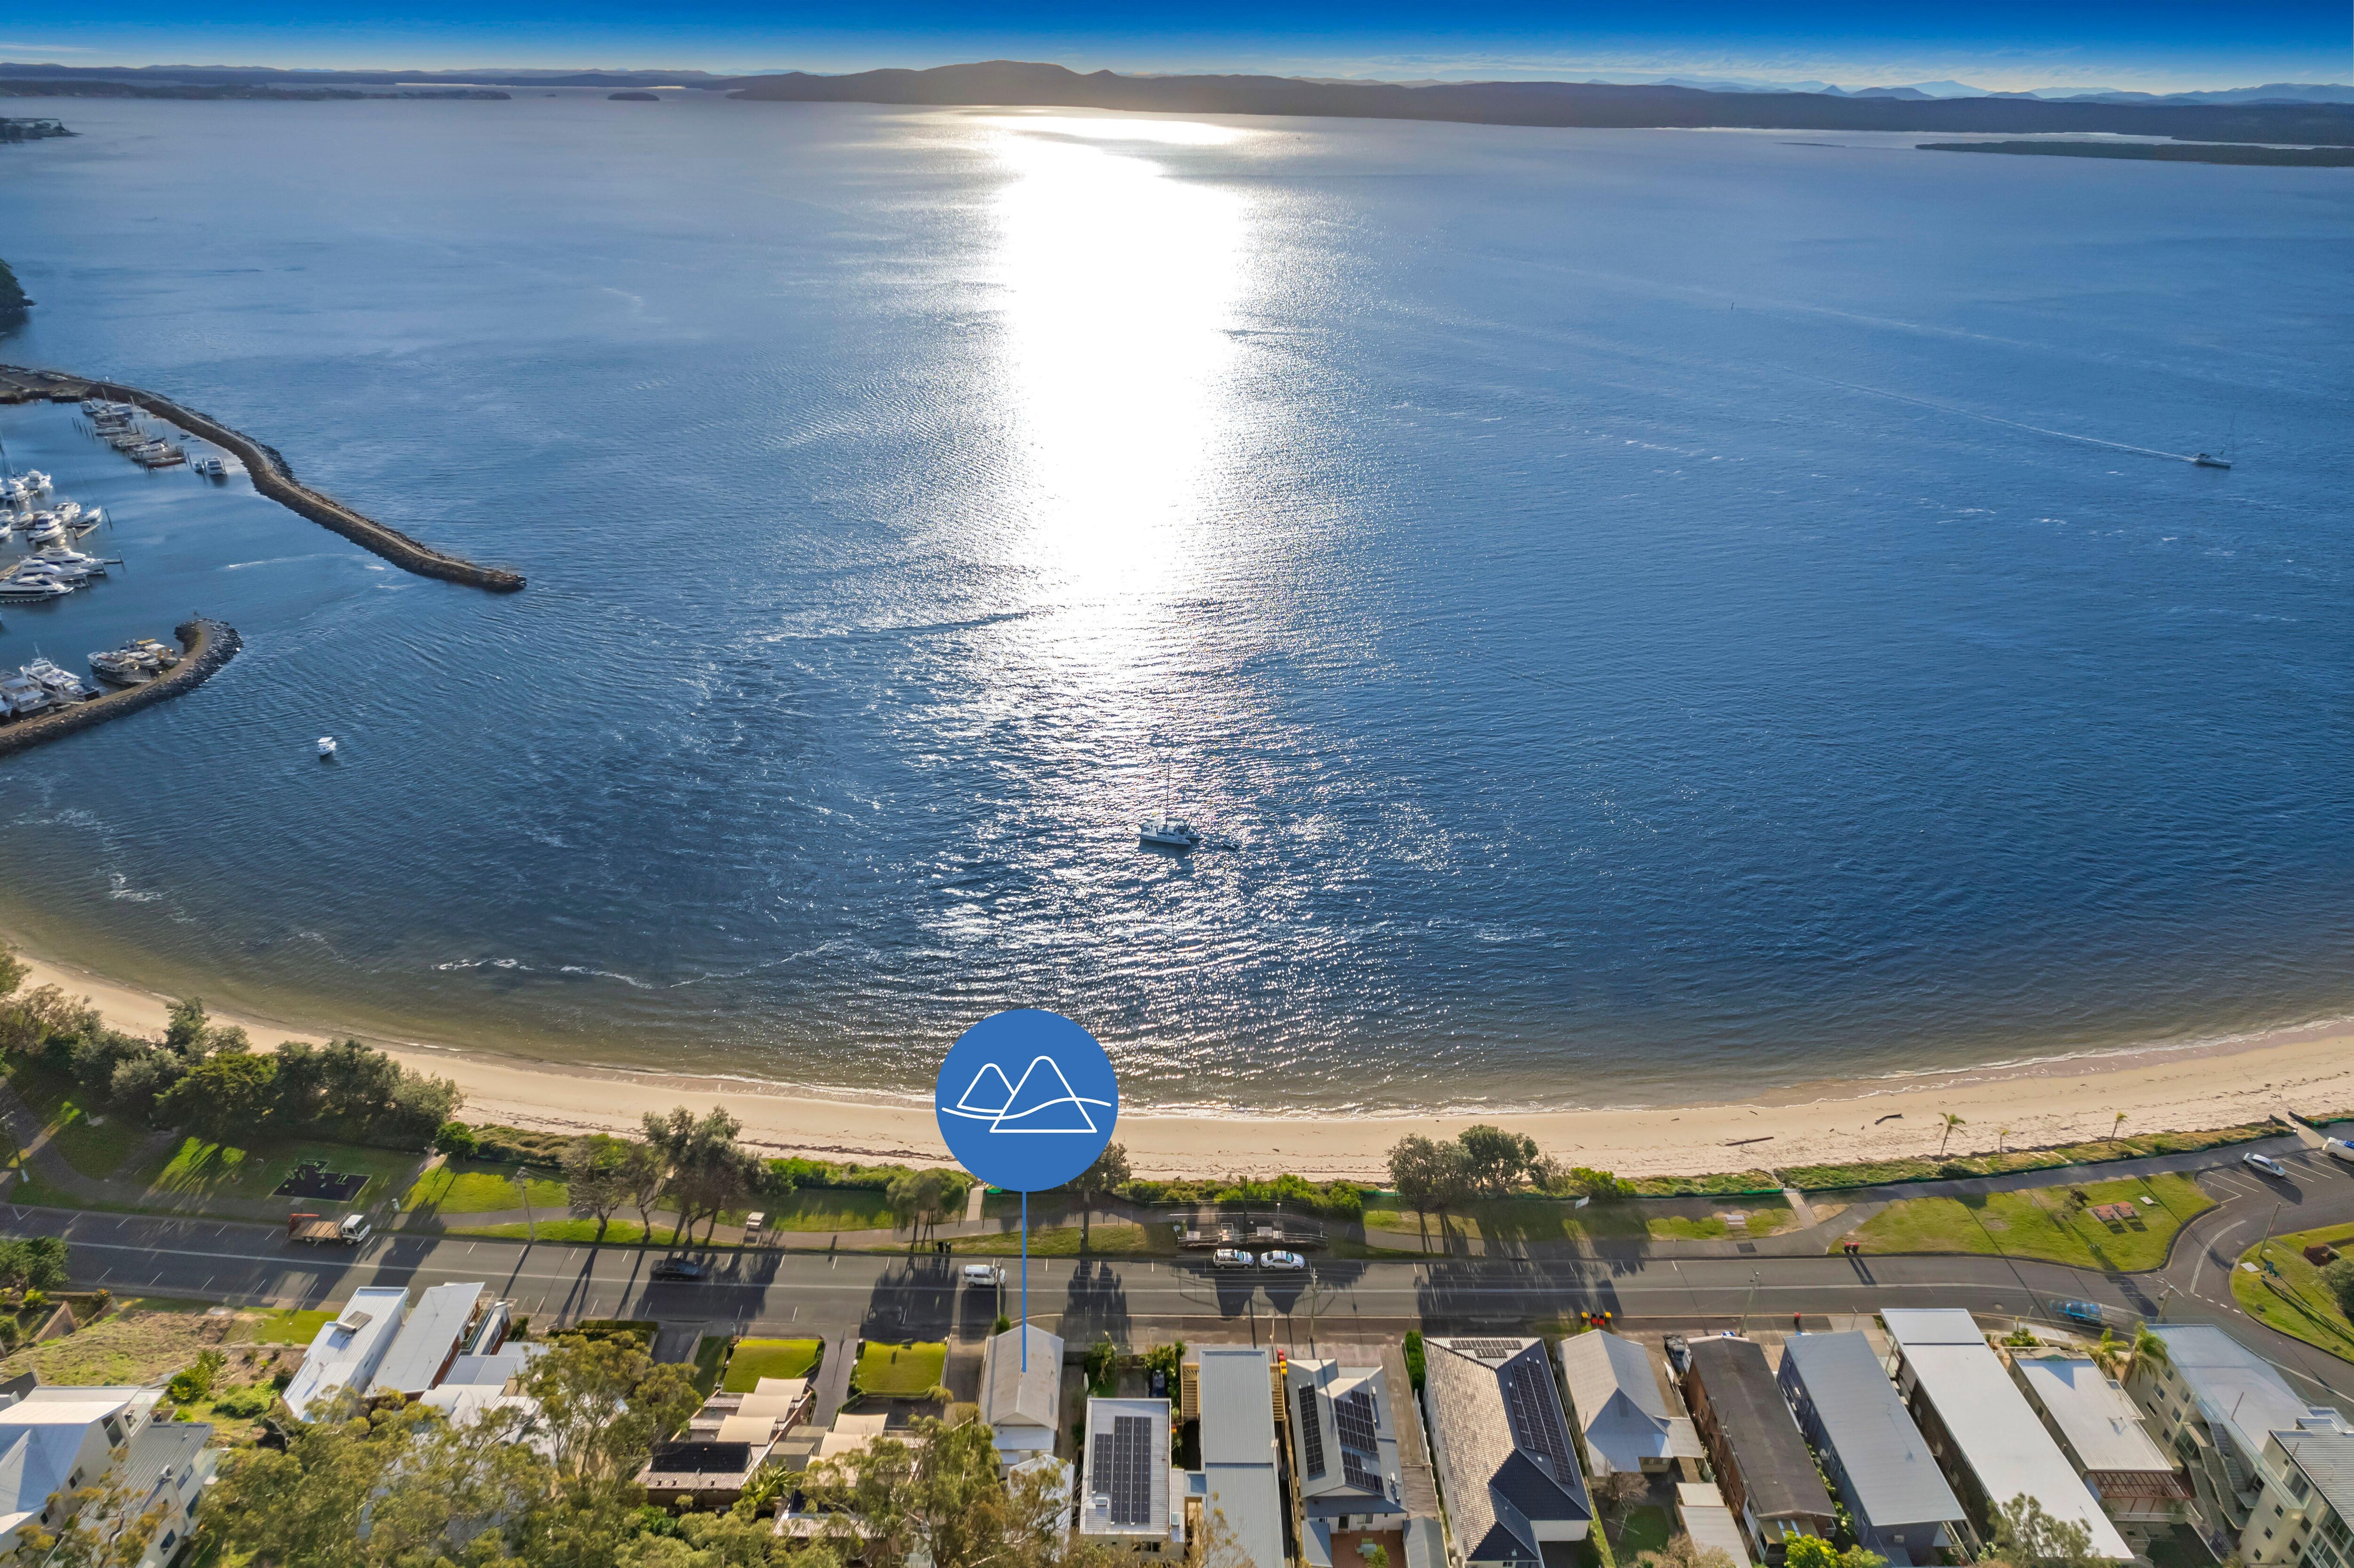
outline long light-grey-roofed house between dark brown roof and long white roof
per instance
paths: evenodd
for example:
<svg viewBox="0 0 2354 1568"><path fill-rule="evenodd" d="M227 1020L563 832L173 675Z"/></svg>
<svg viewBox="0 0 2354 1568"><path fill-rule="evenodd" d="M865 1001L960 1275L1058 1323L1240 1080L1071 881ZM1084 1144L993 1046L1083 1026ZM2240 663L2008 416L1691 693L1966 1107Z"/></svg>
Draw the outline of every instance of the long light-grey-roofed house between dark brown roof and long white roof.
<svg viewBox="0 0 2354 1568"><path fill-rule="evenodd" d="M1940 1561L1937 1554L1959 1540L1961 1500L1904 1413L1871 1340L1791 1335L1777 1382L1848 1504L1855 1542L1895 1568Z"/></svg>

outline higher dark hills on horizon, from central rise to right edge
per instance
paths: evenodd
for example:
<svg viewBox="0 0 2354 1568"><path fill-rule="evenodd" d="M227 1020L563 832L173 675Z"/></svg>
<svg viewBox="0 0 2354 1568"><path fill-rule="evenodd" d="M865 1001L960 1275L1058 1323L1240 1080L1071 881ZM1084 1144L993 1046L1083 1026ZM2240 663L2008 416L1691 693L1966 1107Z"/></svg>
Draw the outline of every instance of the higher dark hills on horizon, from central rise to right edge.
<svg viewBox="0 0 2354 1568"><path fill-rule="evenodd" d="M2109 132L2182 141L2354 146L2354 104L2055 104L2034 97L1716 92L1612 82L1311 82L1283 75L1080 75L982 61L857 75L749 75L739 99L800 104L1005 104L1224 115L1462 120L1474 125L1723 127L1855 132Z"/></svg>

